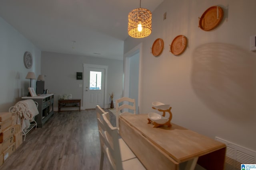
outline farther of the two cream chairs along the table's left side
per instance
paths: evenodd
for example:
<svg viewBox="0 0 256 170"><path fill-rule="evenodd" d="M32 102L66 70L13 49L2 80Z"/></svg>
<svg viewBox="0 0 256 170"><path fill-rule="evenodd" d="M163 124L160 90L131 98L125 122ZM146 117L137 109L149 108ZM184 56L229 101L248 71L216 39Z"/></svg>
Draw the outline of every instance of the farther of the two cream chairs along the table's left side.
<svg viewBox="0 0 256 170"><path fill-rule="evenodd" d="M98 130L99 130L99 137L100 137L100 151L101 151L101 154L100 154L100 170L102 170L103 168L103 161L104 161L104 154L106 154L110 164L111 162L113 162L113 159L114 158L113 156L110 157L110 154L108 153L109 150L106 144L106 141L110 141L110 138L108 137L108 139L106 139L106 135L105 135L105 131L106 131L106 127L105 127L105 123L103 123L103 114L105 115L105 121L108 121L108 123L111 125L110 123L110 117L109 117L109 113L108 112L105 112L100 106L96 106L96 114L97 114L97 121L98 121ZM112 128L114 128L112 125L111 125ZM117 129L117 128L115 128ZM115 136L115 140L117 139L117 141L113 142L112 140L112 150L114 150L114 152L116 153L116 156L119 158L117 159L119 162L124 162L124 166L128 166L126 165L127 163L130 163L130 162L126 162L128 160L132 160L135 162L137 162L137 160L133 160L134 158L136 158L136 156L134 155L134 153L132 152L132 150L130 150L130 148L126 145L126 143L123 141L123 139L117 134ZM110 159L111 158L111 159ZM111 164L111 167L112 169L115 169L114 167L115 164L113 165L113 163ZM116 168L117 170L119 170L119 166L118 168Z"/></svg>

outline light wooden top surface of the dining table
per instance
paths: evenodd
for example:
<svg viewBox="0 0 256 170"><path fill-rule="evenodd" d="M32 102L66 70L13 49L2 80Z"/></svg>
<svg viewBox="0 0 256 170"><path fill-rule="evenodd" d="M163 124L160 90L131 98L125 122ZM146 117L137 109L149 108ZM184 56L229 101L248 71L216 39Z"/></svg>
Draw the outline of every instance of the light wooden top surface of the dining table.
<svg viewBox="0 0 256 170"><path fill-rule="evenodd" d="M148 124L147 114L122 115L120 119L179 163L226 147L224 143L174 123L171 123L171 127L154 128L152 124Z"/></svg>

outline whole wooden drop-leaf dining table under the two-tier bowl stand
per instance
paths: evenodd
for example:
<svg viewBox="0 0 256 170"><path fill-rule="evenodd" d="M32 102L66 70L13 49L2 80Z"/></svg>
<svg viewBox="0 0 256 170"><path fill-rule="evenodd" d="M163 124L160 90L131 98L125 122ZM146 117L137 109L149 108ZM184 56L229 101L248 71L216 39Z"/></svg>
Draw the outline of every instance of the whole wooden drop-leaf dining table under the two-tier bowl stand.
<svg viewBox="0 0 256 170"><path fill-rule="evenodd" d="M147 114L120 115L119 133L147 170L224 169L224 143L174 123L153 127Z"/></svg>

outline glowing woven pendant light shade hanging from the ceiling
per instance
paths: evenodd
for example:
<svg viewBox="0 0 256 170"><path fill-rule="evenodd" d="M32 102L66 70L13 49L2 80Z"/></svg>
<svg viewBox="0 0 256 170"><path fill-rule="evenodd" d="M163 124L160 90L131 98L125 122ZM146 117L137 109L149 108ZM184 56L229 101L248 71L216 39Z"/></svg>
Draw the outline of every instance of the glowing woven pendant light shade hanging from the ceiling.
<svg viewBox="0 0 256 170"><path fill-rule="evenodd" d="M134 38L147 37L151 33L152 14L145 8L136 8L128 15L128 34ZM141 24L141 31L138 31Z"/></svg>

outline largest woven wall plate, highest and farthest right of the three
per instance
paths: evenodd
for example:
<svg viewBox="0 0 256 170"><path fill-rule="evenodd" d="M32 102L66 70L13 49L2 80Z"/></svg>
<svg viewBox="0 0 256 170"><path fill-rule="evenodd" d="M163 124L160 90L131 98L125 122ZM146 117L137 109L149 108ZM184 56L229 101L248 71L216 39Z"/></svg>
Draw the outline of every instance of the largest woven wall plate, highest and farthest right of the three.
<svg viewBox="0 0 256 170"><path fill-rule="evenodd" d="M224 13L221 7L212 6L202 14L201 18L199 18L198 27L204 31L210 31L220 24L223 15Z"/></svg>

